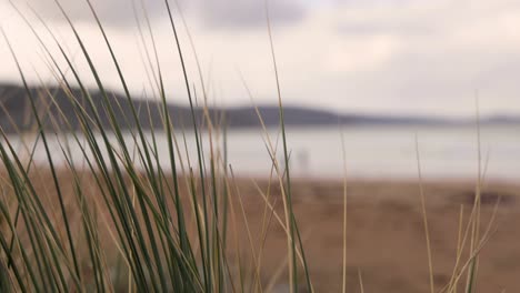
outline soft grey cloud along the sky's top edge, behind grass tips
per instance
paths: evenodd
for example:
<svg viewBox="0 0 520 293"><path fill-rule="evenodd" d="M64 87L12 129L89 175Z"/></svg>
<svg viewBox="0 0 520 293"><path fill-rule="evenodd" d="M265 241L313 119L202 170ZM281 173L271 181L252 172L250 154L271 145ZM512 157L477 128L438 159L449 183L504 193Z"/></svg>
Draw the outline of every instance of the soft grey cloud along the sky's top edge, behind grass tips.
<svg viewBox="0 0 520 293"><path fill-rule="evenodd" d="M164 0L90 0L104 24L128 27L134 23L136 6L143 13L142 3L150 19L167 16ZM268 0L269 1L269 0ZM276 24L301 21L306 17L302 0L269 1L270 19ZM13 0L17 6L27 6L26 0ZM60 0L67 14L77 22L92 22L93 17L87 0ZM169 0L176 12L181 9L208 29L251 29L266 24L264 0ZM134 3L134 4L132 4ZM29 3L40 16L50 21L63 21L54 0L33 0ZM180 7L180 8L179 8Z"/></svg>

